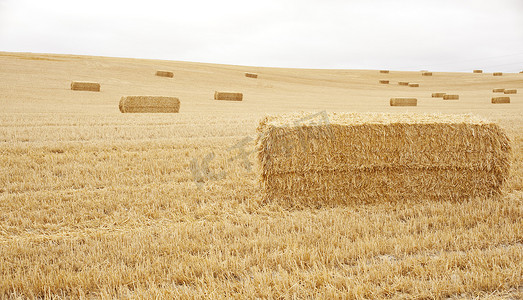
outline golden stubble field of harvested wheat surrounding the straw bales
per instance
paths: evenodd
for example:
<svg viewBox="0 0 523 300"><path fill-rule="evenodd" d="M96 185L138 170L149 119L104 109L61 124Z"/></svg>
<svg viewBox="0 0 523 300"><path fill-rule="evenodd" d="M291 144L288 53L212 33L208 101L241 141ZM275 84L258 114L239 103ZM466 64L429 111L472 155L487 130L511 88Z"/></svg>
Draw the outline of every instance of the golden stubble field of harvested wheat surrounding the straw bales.
<svg viewBox="0 0 523 300"><path fill-rule="evenodd" d="M523 296L523 95L511 95L509 105L491 104L495 87L523 89L521 74L387 75L391 82L420 83L405 89L380 86L378 70L5 52L0 65L0 298ZM246 80L243 74L253 69L263 76ZM151 70L175 71L176 87L147 75ZM72 78L96 78L103 92L71 92L64 87ZM241 91L248 101L213 101L216 90ZM434 101L433 91L452 91L460 100ZM174 95L183 109L123 114L118 106L125 95ZM417 106L391 107L393 97L416 98ZM493 196L480 192L470 199L427 198L421 189L420 197L415 189L404 198L373 191L361 202L314 205L267 197L255 144L260 120L289 114L291 125L321 126L322 116L335 123L331 116L345 112L472 114L506 134L510 170ZM480 165L478 155L502 159L504 152L489 148L502 139L460 140L470 131L451 127L439 137L449 141L446 147L458 140L477 151L449 152L437 161L424 155L436 150L435 142L406 143L415 152L399 147L392 157L437 162L440 169L432 172L444 174L441 182L431 175L436 189L459 169L450 160L443 167L450 156L460 166ZM380 135L387 131L373 126L367 132L390 141L396 134ZM324 140L302 141L330 149ZM365 158L372 141L360 141L347 159ZM306 161L295 154L290 162ZM423 174L391 172L398 178L382 180L403 178L399 183L413 187L410 180L421 178L430 191ZM496 169L475 175L488 172ZM358 174L351 184L378 177L367 167ZM462 180L456 189L473 185L467 178L453 178Z"/></svg>

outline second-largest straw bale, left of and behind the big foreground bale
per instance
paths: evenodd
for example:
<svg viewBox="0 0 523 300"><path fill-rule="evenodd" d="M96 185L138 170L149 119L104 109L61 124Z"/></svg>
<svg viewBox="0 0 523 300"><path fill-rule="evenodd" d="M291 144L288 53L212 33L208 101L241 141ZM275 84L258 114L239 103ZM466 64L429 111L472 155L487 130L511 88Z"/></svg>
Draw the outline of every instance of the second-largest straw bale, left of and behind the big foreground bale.
<svg viewBox="0 0 523 300"><path fill-rule="evenodd" d="M124 96L119 108L122 113L177 113L180 100L166 96Z"/></svg>

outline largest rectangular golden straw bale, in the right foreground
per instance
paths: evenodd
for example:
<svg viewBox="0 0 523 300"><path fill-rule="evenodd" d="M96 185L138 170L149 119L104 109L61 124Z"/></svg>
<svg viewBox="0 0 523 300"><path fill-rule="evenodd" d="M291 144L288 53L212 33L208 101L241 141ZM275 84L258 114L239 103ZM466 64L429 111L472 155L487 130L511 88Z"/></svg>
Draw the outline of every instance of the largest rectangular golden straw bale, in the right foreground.
<svg viewBox="0 0 523 300"><path fill-rule="evenodd" d="M301 114L258 126L260 182L289 205L483 198L501 193L510 144L495 123L471 115Z"/></svg>

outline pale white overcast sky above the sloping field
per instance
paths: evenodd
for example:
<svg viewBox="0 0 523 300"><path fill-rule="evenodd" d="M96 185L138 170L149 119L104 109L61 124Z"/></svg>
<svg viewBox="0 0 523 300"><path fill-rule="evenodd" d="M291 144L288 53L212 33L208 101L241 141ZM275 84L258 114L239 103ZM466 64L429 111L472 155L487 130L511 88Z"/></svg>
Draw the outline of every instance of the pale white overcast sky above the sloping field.
<svg viewBox="0 0 523 300"><path fill-rule="evenodd" d="M0 0L0 51L519 72L523 0Z"/></svg>

